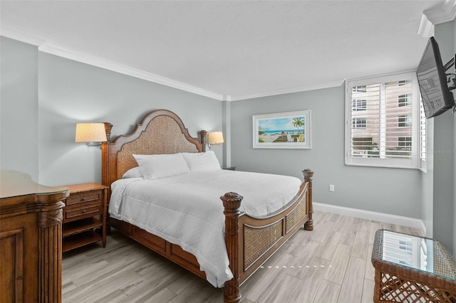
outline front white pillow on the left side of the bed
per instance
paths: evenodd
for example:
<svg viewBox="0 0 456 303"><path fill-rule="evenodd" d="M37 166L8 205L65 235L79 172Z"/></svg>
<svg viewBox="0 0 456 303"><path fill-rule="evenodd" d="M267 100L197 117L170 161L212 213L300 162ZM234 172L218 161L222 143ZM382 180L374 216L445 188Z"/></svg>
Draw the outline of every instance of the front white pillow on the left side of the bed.
<svg viewBox="0 0 456 303"><path fill-rule="evenodd" d="M182 154L133 154L133 156L140 165L144 179L160 179L190 172Z"/></svg>

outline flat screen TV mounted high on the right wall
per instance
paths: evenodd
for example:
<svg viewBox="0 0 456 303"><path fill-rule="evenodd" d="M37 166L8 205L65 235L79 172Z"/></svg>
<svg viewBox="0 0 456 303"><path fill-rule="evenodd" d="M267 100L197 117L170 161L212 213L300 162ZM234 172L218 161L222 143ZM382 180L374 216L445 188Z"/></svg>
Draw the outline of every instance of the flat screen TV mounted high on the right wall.
<svg viewBox="0 0 456 303"><path fill-rule="evenodd" d="M427 42L416 74L427 119L440 115L455 105L434 37L430 37Z"/></svg>

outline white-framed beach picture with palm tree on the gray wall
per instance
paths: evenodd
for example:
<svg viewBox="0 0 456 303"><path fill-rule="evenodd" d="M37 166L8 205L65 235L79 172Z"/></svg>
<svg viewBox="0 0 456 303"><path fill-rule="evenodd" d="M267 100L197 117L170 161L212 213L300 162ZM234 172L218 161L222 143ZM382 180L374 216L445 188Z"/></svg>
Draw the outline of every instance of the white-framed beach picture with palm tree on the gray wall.
<svg viewBox="0 0 456 303"><path fill-rule="evenodd" d="M254 115L254 149L310 149L311 110Z"/></svg>

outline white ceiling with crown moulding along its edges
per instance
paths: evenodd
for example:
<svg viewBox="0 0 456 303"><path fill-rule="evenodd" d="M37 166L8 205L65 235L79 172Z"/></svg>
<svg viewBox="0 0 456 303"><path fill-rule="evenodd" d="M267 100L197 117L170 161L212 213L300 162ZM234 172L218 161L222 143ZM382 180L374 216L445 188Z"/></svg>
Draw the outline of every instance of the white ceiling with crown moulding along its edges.
<svg viewBox="0 0 456 303"><path fill-rule="evenodd" d="M239 100L415 70L427 43L418 34L423 12L446 10L454 18L455 1L448 2L1 1L0 33L48 53Z"/></svg>

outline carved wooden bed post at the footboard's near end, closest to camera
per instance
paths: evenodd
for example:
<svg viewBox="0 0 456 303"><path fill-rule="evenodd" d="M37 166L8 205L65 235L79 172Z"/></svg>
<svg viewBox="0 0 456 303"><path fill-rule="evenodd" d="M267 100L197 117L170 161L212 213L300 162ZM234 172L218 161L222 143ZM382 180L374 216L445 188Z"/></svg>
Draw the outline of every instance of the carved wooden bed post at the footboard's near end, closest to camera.
<svg viewBox="0 0 456 303"><path fill-rule="evenodd" d="M225 282L223 300L225 303L237 303L241 299L239 291L239 207L244 197L238 193L225 193L223 201L225 215L225 243L227 245L229 267L233 278Z"/></svg>

